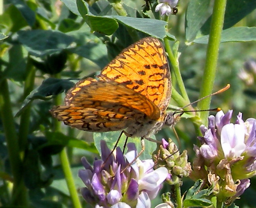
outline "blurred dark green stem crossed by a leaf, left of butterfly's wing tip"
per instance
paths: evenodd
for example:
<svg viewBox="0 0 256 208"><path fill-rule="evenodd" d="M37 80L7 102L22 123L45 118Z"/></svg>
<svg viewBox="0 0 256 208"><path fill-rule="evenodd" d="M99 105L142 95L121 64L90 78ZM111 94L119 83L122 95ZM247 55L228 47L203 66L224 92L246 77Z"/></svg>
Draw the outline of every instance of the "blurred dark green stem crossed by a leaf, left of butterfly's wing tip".
<svg viewBox="0 0 256 208"><path fill-rule="evenodd" d="M24 95L25 99L29 93L33 90L35 81L35 68L31 62L31 59L27 58L27 67L26 67L26 80L24 83ZM30 119L31 103L28 104L27 108L21 115L20 118L20 127L19 127L19 147L21 158L24 158L24 152L27 148L27 135L29 134L29 119Z"/></svg>

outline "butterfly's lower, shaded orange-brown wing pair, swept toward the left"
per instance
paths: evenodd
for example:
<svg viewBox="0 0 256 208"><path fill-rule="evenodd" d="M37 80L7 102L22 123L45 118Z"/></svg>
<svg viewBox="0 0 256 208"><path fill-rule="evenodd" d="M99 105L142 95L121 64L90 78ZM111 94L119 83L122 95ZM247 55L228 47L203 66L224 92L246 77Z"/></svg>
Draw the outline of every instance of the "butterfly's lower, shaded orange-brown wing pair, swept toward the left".
<svg viewBox="0 0 256 208"><path fill-rule="evenodd" d="M70 90L75 94L70 93L66 99L66 104L71 102L70 105L51 109L51 114L67 125L106 132L127 128L145 116L152 120L160 117L152 101L115 81L89 79L78 86Z"/></svg>

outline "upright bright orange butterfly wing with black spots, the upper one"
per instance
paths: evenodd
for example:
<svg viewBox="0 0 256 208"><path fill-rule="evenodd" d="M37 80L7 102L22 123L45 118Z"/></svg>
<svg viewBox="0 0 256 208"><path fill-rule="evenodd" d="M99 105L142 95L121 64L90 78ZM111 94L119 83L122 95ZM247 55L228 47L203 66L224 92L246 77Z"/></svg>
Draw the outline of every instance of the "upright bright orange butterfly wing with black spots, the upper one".
<svg viewBox="0 0 256 208"><path fill-rule="evenodd" d="M163 44L146 37L124 49L100 78L122 83L153 101L163 114L171 98L171 77Z"/></svg>

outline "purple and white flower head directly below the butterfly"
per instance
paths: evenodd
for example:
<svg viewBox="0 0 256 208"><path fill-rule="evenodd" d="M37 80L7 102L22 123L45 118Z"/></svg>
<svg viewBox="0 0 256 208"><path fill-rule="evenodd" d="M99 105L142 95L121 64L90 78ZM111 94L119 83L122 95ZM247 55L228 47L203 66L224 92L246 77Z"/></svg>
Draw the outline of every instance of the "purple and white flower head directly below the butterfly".
<svg viewBox="0 0 256 208"><path fill-rule="evenodd" d="M137 151L133 143L128 143L127 147L125 157L119 147L116 156L110 155L106 142L101 140L102 159L95 160L91 167L82 158L85 170L79 170L79 177L86 188L81 189L81 194L88 203L99 208L150 208L150 200L155 198L162 187L168 170L164 167L153 170L152 159L136 159L129 166L137 156Z"/></svg>

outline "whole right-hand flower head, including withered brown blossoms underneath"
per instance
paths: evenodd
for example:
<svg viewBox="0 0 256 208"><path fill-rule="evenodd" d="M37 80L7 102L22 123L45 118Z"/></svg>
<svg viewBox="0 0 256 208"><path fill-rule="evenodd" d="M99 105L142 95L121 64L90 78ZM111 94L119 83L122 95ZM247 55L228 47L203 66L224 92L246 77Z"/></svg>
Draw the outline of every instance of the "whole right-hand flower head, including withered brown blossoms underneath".
<svg viewBox="0 0 256 208"><path fill-rule="evenodd" d="M201 147L194 146L193 179L215 184L215 193L232 203L249 187L249 177L256 175L256 119L243 121L239 113L230 123L232 110L209 116L208 128L201 126Z"/></svg>

